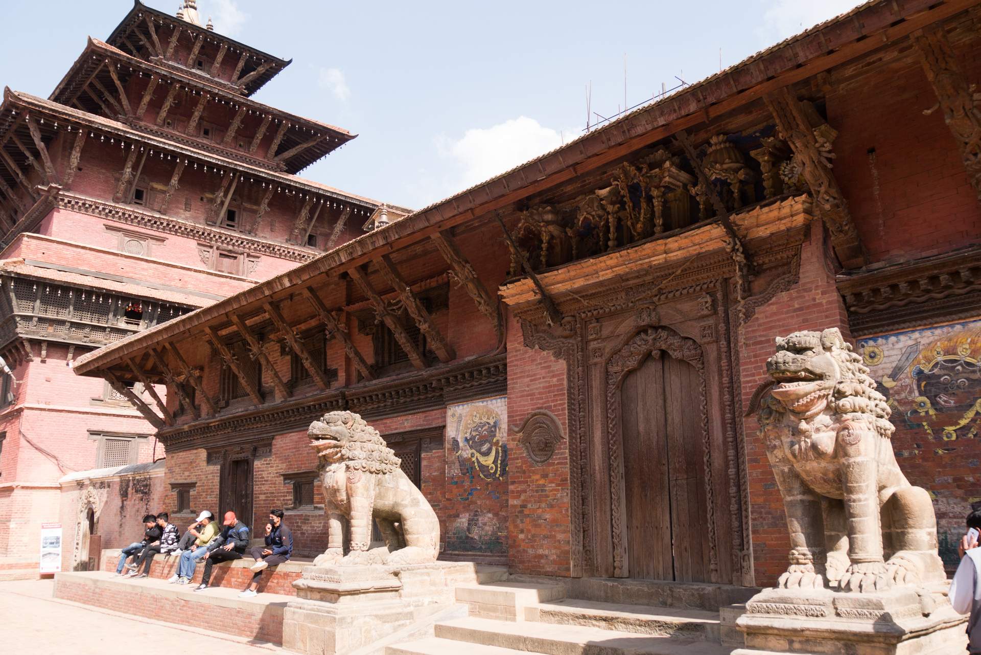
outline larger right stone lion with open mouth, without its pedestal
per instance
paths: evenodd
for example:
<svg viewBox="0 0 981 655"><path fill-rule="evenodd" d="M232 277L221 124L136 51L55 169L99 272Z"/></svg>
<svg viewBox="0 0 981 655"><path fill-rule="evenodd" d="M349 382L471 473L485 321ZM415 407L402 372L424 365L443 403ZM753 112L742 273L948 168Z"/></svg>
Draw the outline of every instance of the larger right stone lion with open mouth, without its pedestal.
<svg viewBox="0 0 981 655"><path fill-rule="evenodd" d="M837 328L777 338L759 435L787 510L784 588L872 592L944 581L937 520L893 454L894 427L859 355ZM770 386L772 385L772 386Z"/></svg>

